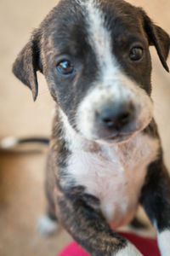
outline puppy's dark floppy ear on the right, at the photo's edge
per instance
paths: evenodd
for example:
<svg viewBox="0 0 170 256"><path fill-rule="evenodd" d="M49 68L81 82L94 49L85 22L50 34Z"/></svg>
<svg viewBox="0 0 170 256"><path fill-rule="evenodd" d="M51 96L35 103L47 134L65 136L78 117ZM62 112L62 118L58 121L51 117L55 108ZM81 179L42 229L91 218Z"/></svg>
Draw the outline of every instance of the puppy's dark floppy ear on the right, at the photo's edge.
<svg viewBox="0 0 170 256"><path fill-rule="evenodd" d="M167 67L167 56L170 49L170 37L160 26L156 26L148 15L145 14L144 10L140 9L143 16L144 31L149 40L150 45L156 47L157 54L161 60L163 67L169 72Z"/></svg>

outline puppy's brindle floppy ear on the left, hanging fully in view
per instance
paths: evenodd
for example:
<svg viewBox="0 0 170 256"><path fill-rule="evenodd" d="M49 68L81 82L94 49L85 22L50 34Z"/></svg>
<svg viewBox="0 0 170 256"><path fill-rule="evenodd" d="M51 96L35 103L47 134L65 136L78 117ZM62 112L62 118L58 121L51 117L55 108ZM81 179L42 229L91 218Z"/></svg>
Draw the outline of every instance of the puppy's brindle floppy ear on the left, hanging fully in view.
<svg viewBox="0 0 170 256"><path fill-rule="evenodd" d="M40 32L35 31L13 65L14 75L31 89L34 101L37 99L38 91L37 71L42 72L39 56L39 38Z"/></svg>

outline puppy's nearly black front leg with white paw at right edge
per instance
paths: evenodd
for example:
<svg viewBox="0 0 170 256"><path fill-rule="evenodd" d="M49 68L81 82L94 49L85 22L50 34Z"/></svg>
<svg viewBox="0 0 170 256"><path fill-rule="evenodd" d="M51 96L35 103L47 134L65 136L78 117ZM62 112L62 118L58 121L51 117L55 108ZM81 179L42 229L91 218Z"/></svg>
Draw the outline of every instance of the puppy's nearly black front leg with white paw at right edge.
<svg viewBox="0 0 170 256"><path fill-rule="evenodd" d="M161 256L170 255L170 177L160 158L151 163L140 199L156 227Z"/></svg>

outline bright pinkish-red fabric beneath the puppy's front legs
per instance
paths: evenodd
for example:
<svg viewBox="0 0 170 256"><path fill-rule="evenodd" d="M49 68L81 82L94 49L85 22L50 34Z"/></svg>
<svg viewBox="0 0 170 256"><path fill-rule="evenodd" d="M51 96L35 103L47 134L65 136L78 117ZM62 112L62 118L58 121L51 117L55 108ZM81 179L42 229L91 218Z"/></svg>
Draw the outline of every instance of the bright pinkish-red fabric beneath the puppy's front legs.
<svg viewBox="0 0 170 256"><path fill-rule="evenodd" d="M132 241L144 256L161 256L155 239L127 233L121 233L120 235L126 237L129 241ZM73 241L69 246L65 247L64 251L59 253L58 256L89 256L89 254Z"/></svg>

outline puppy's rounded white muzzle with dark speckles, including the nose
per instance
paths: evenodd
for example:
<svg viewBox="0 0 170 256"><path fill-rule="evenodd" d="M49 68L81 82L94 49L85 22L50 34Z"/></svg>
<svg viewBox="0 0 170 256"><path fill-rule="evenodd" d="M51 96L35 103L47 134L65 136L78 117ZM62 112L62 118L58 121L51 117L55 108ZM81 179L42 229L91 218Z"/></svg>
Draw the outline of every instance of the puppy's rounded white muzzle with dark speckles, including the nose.
<svg viewBox="0 0 170 256"><path fill-rule="evenodd" d="M96 86L77 109L77 130L88 140L121 143L144 130L153 104L138 84Z"/></svg>

